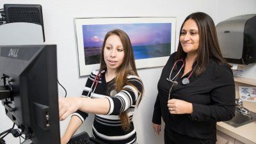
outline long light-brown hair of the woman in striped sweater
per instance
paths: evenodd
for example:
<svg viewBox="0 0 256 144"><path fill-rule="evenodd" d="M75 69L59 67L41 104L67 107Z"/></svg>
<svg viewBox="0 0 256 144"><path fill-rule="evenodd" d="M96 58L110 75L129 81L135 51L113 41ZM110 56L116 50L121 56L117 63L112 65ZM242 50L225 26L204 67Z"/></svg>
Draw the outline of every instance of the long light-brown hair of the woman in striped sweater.
<svg viewBox="0 0 256 144"><path fill-rule="evenodd" d="M120 38L122 45L124 47L124 61L116 69L116 77L115 77L115 90L116 92L120 92L125 85L130 85L137 89L135 86L133 86L131 83L127 81L127 76L129 74L132 74L134 76L138 76L137 70L136 70L136 65L135 65L135 60L134 60L134 54L132 51L132 44L129 36L122 31L121 29L114 29L112 31L109 31L105 38L104 42L102 44L102 51L100 54L100 70L105 70L106 69L106 62L104 61L104 47L106 45L106 40L108 39L109 36L111 35L116 35ZM139 92L139 91L138 91ZM139 97L138 97L138 103L140 104L141 97L143 94L143 88L142 92L139 92ZM130 120L129 116L127 115L126 111L120 113L119 115L121 123L122 123L122 129L124 131L129 130L130 128Z"/></svg>

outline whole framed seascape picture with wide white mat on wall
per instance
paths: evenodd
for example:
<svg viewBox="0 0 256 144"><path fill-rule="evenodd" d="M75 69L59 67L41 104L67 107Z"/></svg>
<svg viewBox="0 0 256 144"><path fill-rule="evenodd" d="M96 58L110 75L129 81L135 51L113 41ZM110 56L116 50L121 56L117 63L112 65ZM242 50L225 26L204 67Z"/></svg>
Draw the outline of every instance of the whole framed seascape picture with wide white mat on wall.
<svg viewBox="0 0 256 144"><path fill-rule="evenodd" d="M164 66L175 51L172 17L75 19L80 76L99 69L100 49L108 31L122 29L131 39L136 68Z"/></svg>

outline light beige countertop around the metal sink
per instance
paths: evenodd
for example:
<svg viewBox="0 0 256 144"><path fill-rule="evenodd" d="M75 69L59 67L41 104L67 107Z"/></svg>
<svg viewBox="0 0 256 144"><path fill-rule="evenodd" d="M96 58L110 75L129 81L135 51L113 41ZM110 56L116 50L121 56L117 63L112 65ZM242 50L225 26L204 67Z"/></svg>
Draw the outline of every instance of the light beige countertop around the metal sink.
<svg viewBox="0 0 256 144"><path fill-rule="evenodd" d="M249 109L256 113L255 102L244 102L244 108ZM225 134L236 138L246 144L256 144L256 122L242 125L240 127L232 127L231 125L225 124L224 122L217 123L217 130L224 132Z"/></svg>

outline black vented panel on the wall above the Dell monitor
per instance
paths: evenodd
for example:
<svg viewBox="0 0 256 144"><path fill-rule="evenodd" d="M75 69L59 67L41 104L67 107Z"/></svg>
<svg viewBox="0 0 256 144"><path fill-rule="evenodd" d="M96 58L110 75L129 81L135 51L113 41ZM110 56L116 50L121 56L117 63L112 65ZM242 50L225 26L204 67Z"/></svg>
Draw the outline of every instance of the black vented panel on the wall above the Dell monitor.
<svg viewBox="0 0 256 144"><path fill-rule="evenodd" d="M42 26L44 36L44 21L40 4L4 4L4 13L6 24L12 22L39 24Z"/></svg>

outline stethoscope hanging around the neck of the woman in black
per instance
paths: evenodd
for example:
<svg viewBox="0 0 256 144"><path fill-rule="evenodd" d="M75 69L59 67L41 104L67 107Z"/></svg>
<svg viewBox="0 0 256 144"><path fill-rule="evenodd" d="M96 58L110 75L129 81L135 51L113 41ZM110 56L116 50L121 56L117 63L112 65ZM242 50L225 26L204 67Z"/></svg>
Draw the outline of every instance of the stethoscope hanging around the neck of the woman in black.
<svg viewBox="0 0 256 144"><path fill-rule="evenodd" d="M172 72L173 72L173 68L175 68L175 66L177 65L177 63L178 63L179 61L182 62L182 65L181 65L181 67L180 67L180 70L179 70L179 72L177 72L177 74L171 79ZM169 90L169 93L168 93L168 100L170 100L170 93L172 92L173 86L178 84L177 77L179 77L180 71L182 70L182 68L184 67L184 65L185 65L185 61L184 61L184 60L182 60L182 59L181 59L181 60L177 60L177 61L174 63L173 67L172 67L172 70L171 70L171 72L170 72L169 78L166 78L167 81L172 82L172 86L171 86L171 88L170 88L170 90ZM182 83L183 85L189 84L189 78L192 76L192 74L193 74L193 70L192 70L192 72L189 74L188 77L184 77L184 78L182 79L181 83Z"/></svg>

